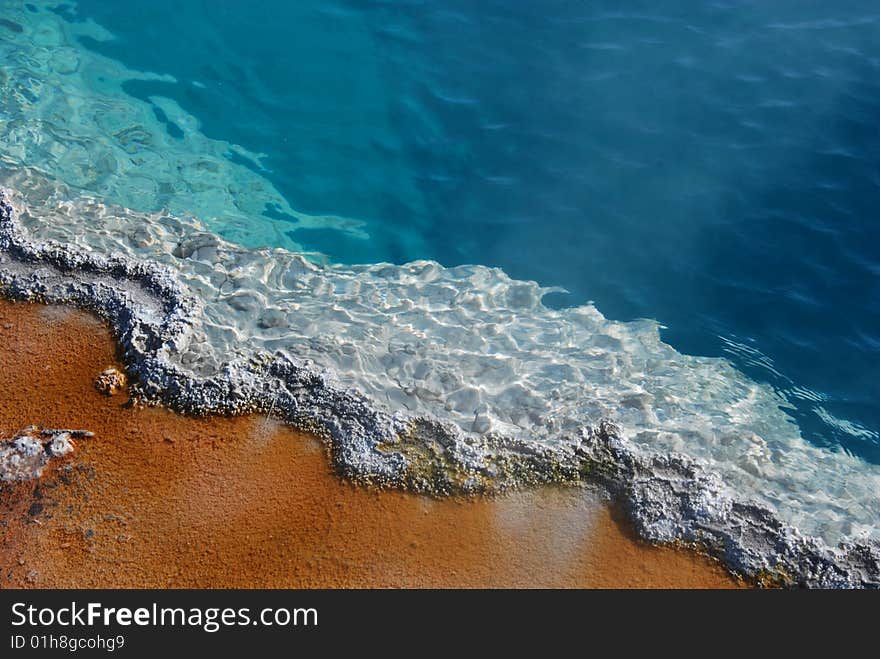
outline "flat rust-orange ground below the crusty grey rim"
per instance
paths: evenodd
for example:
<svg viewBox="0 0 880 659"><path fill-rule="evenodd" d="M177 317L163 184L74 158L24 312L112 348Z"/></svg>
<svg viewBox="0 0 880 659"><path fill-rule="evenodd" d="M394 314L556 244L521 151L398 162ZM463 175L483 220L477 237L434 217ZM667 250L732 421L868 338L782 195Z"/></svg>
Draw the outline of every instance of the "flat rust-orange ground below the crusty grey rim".
<svg viewBox="0 0 880 659"><path fill-rule="evenodd" d="M355 487L277 422L99 394L113 364L92 316L0 301L0 436L95 433L40 482L0 484L0 587L739 585L638 542L588 491L460 501Z"/></svg>

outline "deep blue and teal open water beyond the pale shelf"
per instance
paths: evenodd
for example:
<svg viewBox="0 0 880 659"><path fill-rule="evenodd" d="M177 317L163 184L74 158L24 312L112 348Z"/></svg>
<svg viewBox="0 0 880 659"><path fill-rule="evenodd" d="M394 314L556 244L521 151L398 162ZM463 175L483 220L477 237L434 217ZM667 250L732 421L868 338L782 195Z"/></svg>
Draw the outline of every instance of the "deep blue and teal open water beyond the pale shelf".
<svg viewBox="0 0 880 659"><path fill-rule="evenodd" d="M292 207L365 232L267 205L255 236L280 220L335 261L500 266L567 289L550 304L657 319L678 350L783 392L810 441L880 463L876 2L55 11L115 36L83 47L173 78L128 81L131 97L173 99L265 154L229 158Z"/></svg>

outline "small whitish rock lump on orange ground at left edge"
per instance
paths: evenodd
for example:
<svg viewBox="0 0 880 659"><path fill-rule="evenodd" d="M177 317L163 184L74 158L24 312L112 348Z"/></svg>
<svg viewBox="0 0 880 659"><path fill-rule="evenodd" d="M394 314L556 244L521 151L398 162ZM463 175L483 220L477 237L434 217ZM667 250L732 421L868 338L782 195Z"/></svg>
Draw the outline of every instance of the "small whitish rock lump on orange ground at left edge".
<svg viewBox="0 0 880 659"><path fill-rule="evenodd" d="M28 426L12 439L0 443L0 480L27 481L39 478L53 458L74 450L74 437L91 437L87 430L55 430Z"/></svg>

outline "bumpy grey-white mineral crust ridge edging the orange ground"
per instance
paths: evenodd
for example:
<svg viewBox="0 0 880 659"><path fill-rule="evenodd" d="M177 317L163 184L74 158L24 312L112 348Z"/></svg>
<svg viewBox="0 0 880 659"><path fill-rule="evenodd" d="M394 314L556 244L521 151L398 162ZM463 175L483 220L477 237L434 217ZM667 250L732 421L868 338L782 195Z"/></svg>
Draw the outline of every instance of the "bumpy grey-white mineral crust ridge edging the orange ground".
<svg viewBox="0 0 880 659"><path fill-rule="evenodd" d="M136 395L194 414L262 411L281 417L324 437L337 469L355 480L446 494L590 479L626 502L647 540L699 547L747 578L811 587L880 586L876 543L832 548L803 536L770 509L740 500L704 463L648 451L610 422L562 432L553 443L466 434L427 416L379 409L280 352L236 358L218 374L200 377L170 359L186 352L201 313L199 300L171 270L74 245L34 242L3 197L0 293L97 312L116 332L137 380Z"/></svg>

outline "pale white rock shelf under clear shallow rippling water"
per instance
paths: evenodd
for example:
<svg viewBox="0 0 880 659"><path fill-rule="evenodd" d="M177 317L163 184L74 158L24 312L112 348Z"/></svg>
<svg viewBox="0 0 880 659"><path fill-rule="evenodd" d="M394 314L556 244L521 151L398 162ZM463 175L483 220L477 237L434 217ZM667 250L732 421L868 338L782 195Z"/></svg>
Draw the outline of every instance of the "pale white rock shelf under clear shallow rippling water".
<svg viewBox="0 0 880 659"><path fill-rule="evenodd" d="M110 205L30 169L7 174L0 187L15 188L32 243L161 264L198 300L188 345L165 354L185 377L280 356L385 413L533 446L608 419L637 450L701 460L829 545L880 542L880 464L809 441L787 393L726 359L678 352L653 321L614 321L589 303L552 309L549 289L480 265L318 263L216 235L199 239L212 247L196 260L200 249L180 246L210 235L197 218Z"/></svg>

